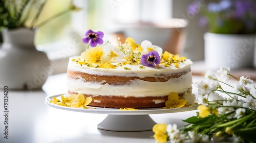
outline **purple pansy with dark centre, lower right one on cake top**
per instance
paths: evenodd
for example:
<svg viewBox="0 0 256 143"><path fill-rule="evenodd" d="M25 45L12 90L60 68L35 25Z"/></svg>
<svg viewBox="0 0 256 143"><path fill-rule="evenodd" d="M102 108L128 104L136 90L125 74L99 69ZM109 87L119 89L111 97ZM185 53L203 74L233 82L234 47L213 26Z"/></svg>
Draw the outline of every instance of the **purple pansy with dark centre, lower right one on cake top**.
<svg viewBox="0 0 256 143"><path fill-rule="evenodd" d="M156 51L148 52L148 54L142 55L140 59L140 63L143 66L152 66L155 67L156 65L160 64L160 56Z"/></svg>

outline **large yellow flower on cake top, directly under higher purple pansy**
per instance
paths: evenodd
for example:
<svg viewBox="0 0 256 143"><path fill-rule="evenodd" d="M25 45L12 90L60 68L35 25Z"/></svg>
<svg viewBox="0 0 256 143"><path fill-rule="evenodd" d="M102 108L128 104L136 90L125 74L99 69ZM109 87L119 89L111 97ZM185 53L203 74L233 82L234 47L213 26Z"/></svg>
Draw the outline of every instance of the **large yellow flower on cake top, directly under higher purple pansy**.
<svg viewBox="0 0 256 143"><path fill-rule="evenodd" d="M90 63L101 63L101 57L103 56L103 54L104 51L102 47L97 46L83 52L81 54L81 57Z"/></svg>

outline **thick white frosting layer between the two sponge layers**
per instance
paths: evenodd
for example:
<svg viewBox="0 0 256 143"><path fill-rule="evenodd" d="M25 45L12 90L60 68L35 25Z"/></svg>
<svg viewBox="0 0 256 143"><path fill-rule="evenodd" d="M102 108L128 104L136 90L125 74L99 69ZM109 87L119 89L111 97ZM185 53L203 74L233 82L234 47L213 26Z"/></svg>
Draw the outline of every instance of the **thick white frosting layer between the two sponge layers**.
<svg viewBox="0 0 256 143"><path fill-rule="evenodd" d="M93 96L133 96L133 97L156 97L166 96L170 92L185 92L191 88L191 72L179 78L169 79L166 82L148 82L139 79L125 85L100 84L98 82L86 82L84 79L77 80L68 78L68 90Z"/></svg>

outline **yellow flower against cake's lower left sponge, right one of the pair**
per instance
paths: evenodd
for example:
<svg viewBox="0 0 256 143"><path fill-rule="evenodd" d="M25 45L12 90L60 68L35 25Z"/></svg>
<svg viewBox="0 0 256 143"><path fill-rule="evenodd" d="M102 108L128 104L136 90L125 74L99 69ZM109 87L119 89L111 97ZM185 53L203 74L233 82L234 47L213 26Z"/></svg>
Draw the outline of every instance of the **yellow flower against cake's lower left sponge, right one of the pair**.
<svg viewBox="0 0 256 143"><path fill-rule="evenodd" d="M91 97L88 97L88 98L85 99L82 93L78 93L77 96L76 96L76 103L73 103L71 105L71 107L76 107L76 108L83 107L85 109L88 109L86 106L88 104L90 104L91 102L92 102Z"/></svg>

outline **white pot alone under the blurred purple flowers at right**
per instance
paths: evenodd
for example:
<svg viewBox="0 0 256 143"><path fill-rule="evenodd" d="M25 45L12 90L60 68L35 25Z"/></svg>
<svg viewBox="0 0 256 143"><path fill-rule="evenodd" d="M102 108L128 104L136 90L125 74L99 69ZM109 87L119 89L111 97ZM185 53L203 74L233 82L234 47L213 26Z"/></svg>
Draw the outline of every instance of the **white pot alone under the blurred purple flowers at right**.
<svg viewBox="0 0 256 143"><path fill-rule="evenodd" d="M251 68L256 35L204 34L204 60L208 69Z"/></svg>

